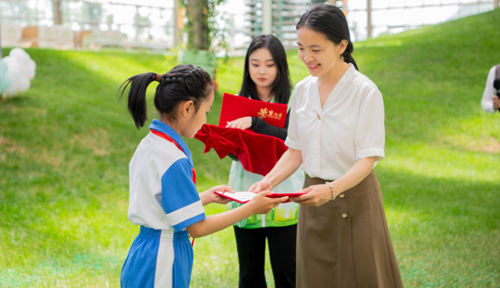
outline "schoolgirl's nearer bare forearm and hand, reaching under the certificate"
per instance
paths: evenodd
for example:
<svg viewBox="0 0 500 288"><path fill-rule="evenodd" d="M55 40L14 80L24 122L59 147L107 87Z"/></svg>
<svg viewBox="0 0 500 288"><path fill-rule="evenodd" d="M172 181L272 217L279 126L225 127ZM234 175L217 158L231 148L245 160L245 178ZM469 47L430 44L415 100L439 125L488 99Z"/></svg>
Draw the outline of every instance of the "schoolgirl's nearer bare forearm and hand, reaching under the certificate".
<svg viewBox="0 0 500 288"><path fill-rule="evenodd" d="M186 229L188 230L192 238L207 236L221 229L225 229L235 224L237 221L244 220L254 214L265 214L271 211L272 208L274 208L279 203L284 202L288 199L288 197L266 197L266 195L269 193L271 193L271 191L263 191L262 193L258 193L250 202L247 202L245 205L242 205L237 209L233 209L216 215L210 215L204 220L188 226Z"/></svg>

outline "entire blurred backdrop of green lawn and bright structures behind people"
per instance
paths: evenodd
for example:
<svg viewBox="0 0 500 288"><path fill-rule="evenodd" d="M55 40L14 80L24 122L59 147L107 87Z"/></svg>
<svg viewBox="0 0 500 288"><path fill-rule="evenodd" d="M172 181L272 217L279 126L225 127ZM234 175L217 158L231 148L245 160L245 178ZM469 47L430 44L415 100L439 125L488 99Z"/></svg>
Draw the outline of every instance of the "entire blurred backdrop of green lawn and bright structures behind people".
<svg viewBox="0 0 500 288"><path fill-rule="evenodd" d="M290 81L299 16L325 1L0 0L0 287L120 287L138 226L129 159L147 134L117 90L192 63L222 95L241 88L246 47L272 33ZM406 288L500 287L500 121L481 108L500 62L498 0L344 0L353 57L384 97L376 168ZM217 72L217 76L216 76ZM198 190L228 183L228 157L192 151ZM205 206L207 214L227 211ZM232 228L196 239L192 287L237 286ZM266 256L265 274L273 287Z"/></svg>

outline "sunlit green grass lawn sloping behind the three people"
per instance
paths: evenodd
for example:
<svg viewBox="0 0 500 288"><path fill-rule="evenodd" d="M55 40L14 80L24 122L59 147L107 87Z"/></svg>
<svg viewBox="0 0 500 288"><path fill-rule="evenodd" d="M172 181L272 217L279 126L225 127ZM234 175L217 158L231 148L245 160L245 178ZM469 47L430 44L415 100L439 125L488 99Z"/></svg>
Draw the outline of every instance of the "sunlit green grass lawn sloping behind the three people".
<svg viewBox="0 0 500 288"><path fill-rule="evenodd" d="M384 96L386 158L376 172L406 287L500 287L500 114L480 106L500 62L498 23L496 9L354 44ZM127 77L165 72L174 60L27 52L37 63L30 90L0 102L0 286L119 287L138 233L127 220L128 164L147 129L135 130L116 92ZM288 56L295 84L308 71L296 51ZM243 63L220 61L210 123L222 93L239 91ZM186 142L199 190L226 184L230 161ZM192 287L237 287L237 271L232 228L196 239ZM266 275L273 287L269 264Z"/></svg>

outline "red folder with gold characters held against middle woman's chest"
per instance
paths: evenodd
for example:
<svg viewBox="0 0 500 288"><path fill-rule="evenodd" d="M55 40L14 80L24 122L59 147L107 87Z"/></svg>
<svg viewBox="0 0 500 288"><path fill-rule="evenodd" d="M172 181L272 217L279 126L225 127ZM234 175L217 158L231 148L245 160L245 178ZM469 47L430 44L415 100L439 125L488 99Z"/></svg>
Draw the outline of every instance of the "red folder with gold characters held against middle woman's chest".
<svg viewBox="0 0 500 288"><path fill-rule="evenodd" d="M225 93L222 96L219 126L226 127L228 121L253 116L261 118L272 126L283 128L287 118L287 109L286 104L268 103Z"/></svg>

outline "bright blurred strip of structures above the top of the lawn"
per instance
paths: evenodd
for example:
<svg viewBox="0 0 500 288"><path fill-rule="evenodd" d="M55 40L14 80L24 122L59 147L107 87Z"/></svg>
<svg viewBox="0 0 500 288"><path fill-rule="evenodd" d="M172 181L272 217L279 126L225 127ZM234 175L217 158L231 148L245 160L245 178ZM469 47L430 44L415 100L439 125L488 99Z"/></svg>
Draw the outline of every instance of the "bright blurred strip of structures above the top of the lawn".
<svg viewBox="0 0 500 288"><path fill-rule="evenodd" d="M206 7L211 49L241 54L272 33L295 49L295 23L315 4L342 7L353 41L480 14L498 0L2 0L2 46L56 49L175 49L186 44L186 8ZM187 9L192 10L192 9ZM200 19L193 19L193 21Z"/></svg>

